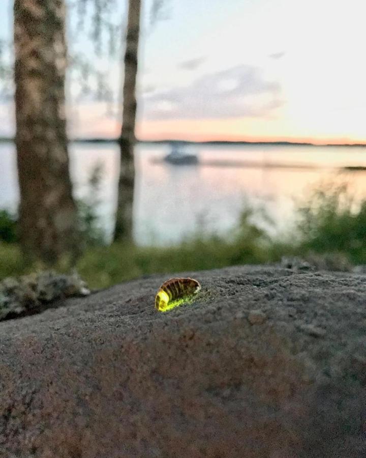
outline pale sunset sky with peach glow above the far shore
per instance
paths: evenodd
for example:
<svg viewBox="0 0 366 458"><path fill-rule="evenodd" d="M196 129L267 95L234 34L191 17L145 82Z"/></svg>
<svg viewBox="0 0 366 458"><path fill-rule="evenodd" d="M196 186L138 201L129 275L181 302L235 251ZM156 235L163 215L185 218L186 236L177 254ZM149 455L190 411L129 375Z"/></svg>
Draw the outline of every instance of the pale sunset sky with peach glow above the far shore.
<svg viewBox="0 0 366 458"><path fill-rule="evenodd" d="M3 38L12 34L11 4L0 2ZM116 4L112 18L124 20L125 2ZM138 138L366 142L363 0L165 0L154 25L150 5L143 5ZM75 24L72 10L70 52L93 61L93 44L86 33L75 38ZM78 97L70 76L72 137L120 129L119 58L94 62L113 101ZM12 107L2 102L0 135L13 133Z"/></svg>

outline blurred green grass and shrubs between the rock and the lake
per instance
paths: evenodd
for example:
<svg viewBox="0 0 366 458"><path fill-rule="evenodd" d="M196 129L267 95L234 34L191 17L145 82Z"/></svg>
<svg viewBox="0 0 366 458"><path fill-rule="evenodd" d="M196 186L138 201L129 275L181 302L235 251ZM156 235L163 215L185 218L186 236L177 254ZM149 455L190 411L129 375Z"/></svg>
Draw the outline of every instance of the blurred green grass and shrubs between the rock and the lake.
<svg viewBox="0 0 366 458"><path fill-rule="evenodd" d="M315 253L366 264L366 199L357 204L346 185L323 186L298 205L296 214L291 238L270 238L253 222L254 216L258 220L258 212L248 207L226 237L205 235L201 230L176 246L104 246L97 243L97 233L76 269L91 288L106 288L141 275L263 264L279 261L283 255ZM0 241L0 260L0 279L42 268L24 265L16 243Z"/></svg>

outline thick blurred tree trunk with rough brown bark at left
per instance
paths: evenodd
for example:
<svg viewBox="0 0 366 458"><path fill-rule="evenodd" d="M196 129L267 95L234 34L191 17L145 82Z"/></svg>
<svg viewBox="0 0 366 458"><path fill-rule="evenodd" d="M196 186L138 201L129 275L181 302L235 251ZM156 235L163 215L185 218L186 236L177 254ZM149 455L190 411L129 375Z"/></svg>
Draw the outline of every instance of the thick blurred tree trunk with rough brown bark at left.
<svg viewBox="0 0 366 458"><path fill-rule="evenodd" d="M24 253L77 253L65 119L65 1L15 0L16 149Z"/></svg>

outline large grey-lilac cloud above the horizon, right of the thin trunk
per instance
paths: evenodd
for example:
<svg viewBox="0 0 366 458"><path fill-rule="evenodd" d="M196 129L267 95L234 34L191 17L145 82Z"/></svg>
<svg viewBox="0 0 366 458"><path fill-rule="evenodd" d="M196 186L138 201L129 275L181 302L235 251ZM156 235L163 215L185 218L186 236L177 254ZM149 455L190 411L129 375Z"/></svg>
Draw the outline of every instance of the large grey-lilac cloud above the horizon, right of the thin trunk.
<svg viewBox="0 0 366 458"><path fill-rule="evenodd" d="M202 76L188 87L146 94L142 113L146 120L266 117L283 103L280 94L279 83L241 65Z"/></svg>

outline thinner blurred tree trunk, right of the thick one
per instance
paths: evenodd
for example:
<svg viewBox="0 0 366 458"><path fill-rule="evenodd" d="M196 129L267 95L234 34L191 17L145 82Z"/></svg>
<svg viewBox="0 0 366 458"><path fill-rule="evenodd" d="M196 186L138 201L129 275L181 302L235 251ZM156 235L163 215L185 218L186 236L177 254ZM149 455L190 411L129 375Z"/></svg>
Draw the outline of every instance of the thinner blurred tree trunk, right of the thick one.
<svg viewBox="0 0 366 458"><path fill-rule="evenodd" d="M135 143L136 76L140 34L140 10L140 0L129 0L125 51L125 80L123 89L123 120L119 138L120 172L114 240L132 241L132 210L135 183L133 151Z"/></svg>

